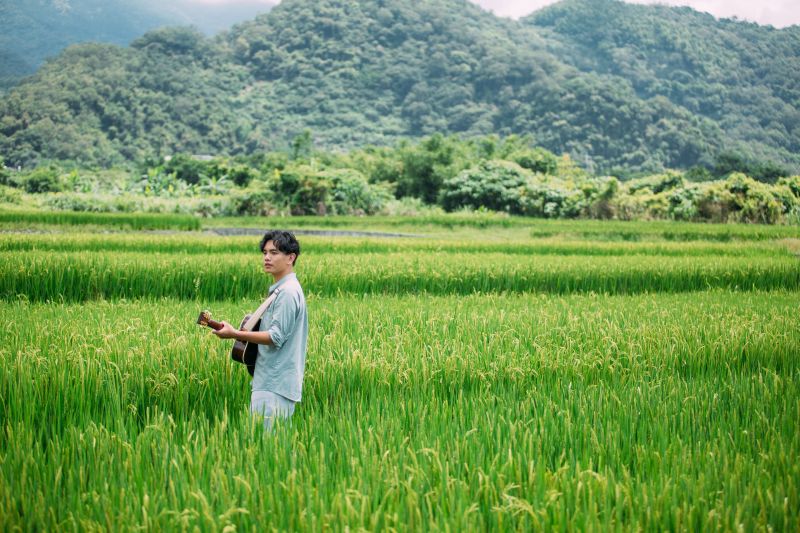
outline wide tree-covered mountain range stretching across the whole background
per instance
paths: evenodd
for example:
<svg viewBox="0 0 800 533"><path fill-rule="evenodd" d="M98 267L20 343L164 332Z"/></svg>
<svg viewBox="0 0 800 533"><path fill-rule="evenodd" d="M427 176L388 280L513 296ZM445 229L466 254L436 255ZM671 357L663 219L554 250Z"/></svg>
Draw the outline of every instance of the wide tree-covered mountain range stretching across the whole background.
<svg viewBox="0 0 800 533"><path fill-rule="evenodd" d="M800 166L800 33L566 0L522 21L466 0L284 0L213 39L73 46L0 102L0 155L111 165L175 152L532 134L594 172Z"/></svg>

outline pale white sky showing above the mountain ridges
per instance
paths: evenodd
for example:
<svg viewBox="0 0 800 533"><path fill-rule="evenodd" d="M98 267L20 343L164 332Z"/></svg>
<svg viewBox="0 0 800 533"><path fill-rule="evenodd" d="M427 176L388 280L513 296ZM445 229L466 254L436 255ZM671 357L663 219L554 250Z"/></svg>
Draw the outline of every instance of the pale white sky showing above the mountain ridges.
<svg viewBox="0 0 800 533"><path fill-rule="evenodd" d="M263 3L274 5L279 0L192 0L203 4ZM471 0L476 4L504 17L522 17L556 0ZM668 4L690 6L697 11L711 13L715 17L733 17L772 24L783 28L800 24L800 0L626 0L637 4Z"/></svg>

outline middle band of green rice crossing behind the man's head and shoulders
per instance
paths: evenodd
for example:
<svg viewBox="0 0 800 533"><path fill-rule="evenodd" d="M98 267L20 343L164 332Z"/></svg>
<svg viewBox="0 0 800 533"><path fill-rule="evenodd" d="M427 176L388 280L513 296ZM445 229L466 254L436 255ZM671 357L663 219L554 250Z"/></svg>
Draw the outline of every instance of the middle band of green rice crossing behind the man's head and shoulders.
<svg viewBox="0 0 800 533"><path fill-rule="evenodd" d="M258 299L269 285L260 254L224 256L63 252L0 253L0 298ZM307 293L472 294L598 292L636 294L709 288L800 288L792 256L526 256L497 253L301 256Z"/></svg>

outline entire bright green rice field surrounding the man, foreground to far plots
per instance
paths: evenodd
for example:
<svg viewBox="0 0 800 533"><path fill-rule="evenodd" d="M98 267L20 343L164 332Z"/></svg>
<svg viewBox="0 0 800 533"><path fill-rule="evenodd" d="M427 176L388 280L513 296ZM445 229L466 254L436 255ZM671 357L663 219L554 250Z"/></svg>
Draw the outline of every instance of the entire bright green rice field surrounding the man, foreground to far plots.
<svg viewBox="0 0 800 533"><path fill-rule="evenodd" d="M266 435L194 324L260 303L258 237L5 233L0 530L797 531L790 233L619 227L299 237Z"/></svg>

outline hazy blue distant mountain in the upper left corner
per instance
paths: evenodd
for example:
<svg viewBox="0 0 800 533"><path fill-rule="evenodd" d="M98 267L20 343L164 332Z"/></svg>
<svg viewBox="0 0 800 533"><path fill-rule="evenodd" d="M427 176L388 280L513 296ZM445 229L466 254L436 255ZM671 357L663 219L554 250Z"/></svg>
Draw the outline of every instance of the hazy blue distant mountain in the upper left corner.
<svg viewBox="0 0 800 533"><path fill-rule="evenodd" d="M165 25L192 25L213 34L268 7L256 1L220 6L189 0L0 0L0 91L70 44L128 45Z"/></svg>

